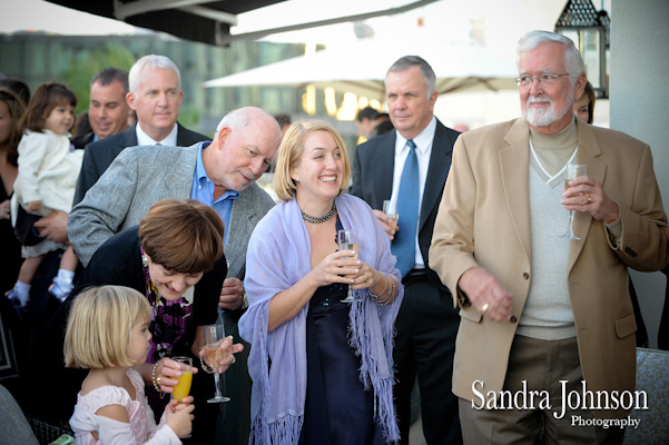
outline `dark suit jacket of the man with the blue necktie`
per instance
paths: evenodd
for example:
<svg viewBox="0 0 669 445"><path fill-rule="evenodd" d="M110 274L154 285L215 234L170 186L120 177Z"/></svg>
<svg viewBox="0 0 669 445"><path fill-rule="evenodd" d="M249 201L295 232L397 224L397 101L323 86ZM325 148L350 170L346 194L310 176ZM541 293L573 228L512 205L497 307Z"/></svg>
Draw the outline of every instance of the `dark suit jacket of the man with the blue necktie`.
<svg viewBox="0 0 669 445"><path fill-rule="evenodd" d="M430 280L446 291L447 288L430 268L427 251L432 243L434 219L451 168L451 154L458 136L460 132L445 127L439 119L436 120L419 221L419 246ZM391 199L395 168L395 140L396 131L388 131L360 145L355 150L351 195L364 199L373 209L382 209L383 201Z"/></svg>

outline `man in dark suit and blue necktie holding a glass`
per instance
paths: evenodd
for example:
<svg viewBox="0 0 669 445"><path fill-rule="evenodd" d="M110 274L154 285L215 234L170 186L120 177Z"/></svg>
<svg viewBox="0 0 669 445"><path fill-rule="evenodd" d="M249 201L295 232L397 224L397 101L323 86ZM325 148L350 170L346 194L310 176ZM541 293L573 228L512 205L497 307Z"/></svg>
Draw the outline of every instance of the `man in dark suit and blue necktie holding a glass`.
<svg viewBox="0 0 669 445"><path fill-rule="evenodd" d="M395 400L405 445L416 375L427 444L462 443L458 399L451 392L460 317L451 294L427 264L434 219L451 167L453 144L460 135L433 116L439 96L435 83L434 71L425 60L416 56L399 59L385 79L390 117L396 131L357 147L353 161L351 192L375 209L392 241L405 286L395 322L393 353ZM415 195L407 196L410 190ZM392 219L378 210L384 200L397 204L396 229ZM402 253L402 247L407 250Z"/></svg>

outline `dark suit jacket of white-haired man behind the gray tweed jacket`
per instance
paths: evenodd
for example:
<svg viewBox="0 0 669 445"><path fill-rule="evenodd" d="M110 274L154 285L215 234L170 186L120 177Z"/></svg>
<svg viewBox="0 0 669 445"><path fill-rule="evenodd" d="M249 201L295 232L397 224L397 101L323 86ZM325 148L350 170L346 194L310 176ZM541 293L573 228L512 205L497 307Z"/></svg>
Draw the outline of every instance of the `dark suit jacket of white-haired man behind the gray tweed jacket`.
<svg viewBox="0 0 669 445"><path fill-rule="evenodd" d="M177 126L177 146L179 147L190 147L194 144L210 140L207 136L190 131L181 127L178 122ZM127 147L135 147L136 145L137 132L135 131L135 127L88 145L83 152L72 207L81 202L88 189L98 181L118 154Z"/></svg>

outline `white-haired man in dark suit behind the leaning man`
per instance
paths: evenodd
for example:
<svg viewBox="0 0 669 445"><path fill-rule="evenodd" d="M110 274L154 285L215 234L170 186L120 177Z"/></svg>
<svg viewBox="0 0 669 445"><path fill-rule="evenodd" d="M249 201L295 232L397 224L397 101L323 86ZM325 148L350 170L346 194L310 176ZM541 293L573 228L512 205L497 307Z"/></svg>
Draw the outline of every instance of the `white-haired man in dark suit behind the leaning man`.
<svg viewBox="0 0 669 445"><path fill-rule="evenodd" d="M129 83L130 92L126 100L137 112L137 125L86 148L75 205L83 199L88 189L127 147L189 147L209 139L177 122L184 98L181 75L167 57L150 55L139 59L130 68Z"/></svg>

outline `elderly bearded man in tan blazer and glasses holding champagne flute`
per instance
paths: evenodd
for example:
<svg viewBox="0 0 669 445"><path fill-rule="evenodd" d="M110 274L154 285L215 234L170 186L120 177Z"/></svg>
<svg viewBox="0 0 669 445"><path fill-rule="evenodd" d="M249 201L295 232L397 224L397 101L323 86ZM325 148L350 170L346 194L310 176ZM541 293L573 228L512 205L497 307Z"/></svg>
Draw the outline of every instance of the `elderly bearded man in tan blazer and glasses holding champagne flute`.
<svg viewBox="0 0 669 445"><path fill-rule="evenodd" d="M622 442L637 329L628 267L668 257L650 148L572 113L586 86L571 40L519 44L523 118L463 134L430 264L461 307L453 392L465 443ZM569 181L568 164L587 165ZM569 211L580 239L564 239ZM646 397L646 398L645 398Z"/></svg>

